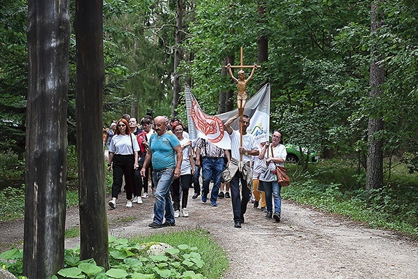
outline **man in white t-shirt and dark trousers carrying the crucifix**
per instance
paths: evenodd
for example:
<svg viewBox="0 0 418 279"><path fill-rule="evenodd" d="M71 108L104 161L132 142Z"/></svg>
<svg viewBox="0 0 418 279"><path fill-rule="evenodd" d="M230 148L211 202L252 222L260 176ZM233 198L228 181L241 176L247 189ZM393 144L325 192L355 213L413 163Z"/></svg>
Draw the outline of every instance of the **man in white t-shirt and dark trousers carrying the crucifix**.
<svg viewBox="0 0 418 279"><path fill-rule="evenodd" d="M242 146L240 144L241 134L239 130L233 130L231 124L239 115L232 116L225 122L225 129L231 138L231 163L229 169L231 172L231 200L233 209L233 221L235 227L241 227L244 223L244 214L247 211L247 204L251 197L251 156L258 156L258 144L253 135L247 133L249 126L249 116L242 117ZM242 158L242 159L241 159ZM241 193L240 193L241 181ZM242 195L242 199L241 199Z"/></svg>

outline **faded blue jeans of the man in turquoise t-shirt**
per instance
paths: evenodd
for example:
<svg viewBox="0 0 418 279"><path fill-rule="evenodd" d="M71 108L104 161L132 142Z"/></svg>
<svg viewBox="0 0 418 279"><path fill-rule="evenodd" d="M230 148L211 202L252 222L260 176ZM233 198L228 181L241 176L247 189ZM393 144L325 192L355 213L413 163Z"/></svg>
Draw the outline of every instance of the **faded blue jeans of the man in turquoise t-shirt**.
<svg viewBox="0 0 418 279"><path fill-rule="evenodd" d="M157 224L162 224L162 217L174 224L173 203L170 197L170 185L173 183L174 168L154 169L153 181L155 183L154 219ZM164 215L165 212L165 215Z"/></svg>

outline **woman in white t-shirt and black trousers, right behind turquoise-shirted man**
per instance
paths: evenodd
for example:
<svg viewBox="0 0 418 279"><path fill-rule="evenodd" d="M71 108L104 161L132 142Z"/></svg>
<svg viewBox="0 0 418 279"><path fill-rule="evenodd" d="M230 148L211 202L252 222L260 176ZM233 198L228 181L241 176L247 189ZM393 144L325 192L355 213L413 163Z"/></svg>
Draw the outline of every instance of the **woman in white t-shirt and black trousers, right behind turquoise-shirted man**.
<svg viewBox="0 0 418 279"><path fill-rule="evenodd" d="M192 152L192 142L183 136L185 127L182 123L174 121L171 125L172 132L178 140L183 151L183 161L181 162L180 177L174 179L171 184L171 197L173 199L174 217L189 217L187 211L187 199L189 197L189 188L192 186L194 174L194 160ZM181 208L180 208L180 187L181 187Z"/></svg>

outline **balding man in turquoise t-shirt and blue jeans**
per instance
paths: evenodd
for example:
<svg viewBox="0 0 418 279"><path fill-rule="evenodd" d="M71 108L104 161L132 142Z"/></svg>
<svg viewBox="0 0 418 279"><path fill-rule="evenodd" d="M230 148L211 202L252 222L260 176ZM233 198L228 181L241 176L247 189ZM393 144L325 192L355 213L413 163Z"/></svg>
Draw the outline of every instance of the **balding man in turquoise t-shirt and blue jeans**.
<svg viewBox="0 0 418 279"><path fill-rule="evenodd" d="M183 152L176 135L167 133L167 123L164 116L154 119L155 134L149 140L149 149L145 156L141 176L145 176L146 167L152 160L153 181L155 183L155 204L153 223L148 225L152 228L171 227L176 225L174 220L173 203L170 197L170 185L173 179L180 176ZM165 222L162 223L163 217Z"/></svg>

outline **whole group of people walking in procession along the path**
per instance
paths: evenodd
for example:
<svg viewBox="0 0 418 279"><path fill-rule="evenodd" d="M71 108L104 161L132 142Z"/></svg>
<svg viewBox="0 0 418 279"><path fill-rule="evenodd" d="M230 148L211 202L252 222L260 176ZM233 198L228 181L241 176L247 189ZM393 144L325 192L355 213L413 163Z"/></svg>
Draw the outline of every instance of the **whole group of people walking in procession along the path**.
<svg viewBox="0 0 418 279"><path fill-rule="evenodd" d="M231 127L237 119L241 121L242 134ZM286 160L286 148L279 131L274 131L272 142L257 144L254 136L247 133L249 121L249 116L240 118L236 114L224 123L231 138L231 150L225 150L202 138L190 141L186 127L179 119L169 121L167 116L157 116L152 121L150 117L144 118L141 119L141 129L136 119L119 119L109 142L108 170L113 169L114 176L109 206L116 208L123 177L126 206L131 207L134 202L141 204L141 197L148 197L146 176L151 174L155 204L153 222L149 227L171 227L176 225L176 218L188 217L189 188L194 189L192 199L201 195L201 201L206 203L209 200L211 206L217 206L219 197L231 197L234 226L240 228L245 223L247 204L254 187L254 207L258 207L261 197L265 196L265 218L279 222L281 186L274 179L274 172L276 165L283 165ZM222 172L226 168L229 169L230 181L224 181L229 186L224 194L221 185ZM141 195L143 188L144 194ZM260 191L265 195L260 195Z"/></svg>

